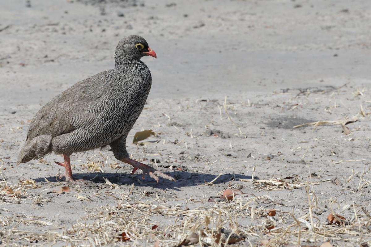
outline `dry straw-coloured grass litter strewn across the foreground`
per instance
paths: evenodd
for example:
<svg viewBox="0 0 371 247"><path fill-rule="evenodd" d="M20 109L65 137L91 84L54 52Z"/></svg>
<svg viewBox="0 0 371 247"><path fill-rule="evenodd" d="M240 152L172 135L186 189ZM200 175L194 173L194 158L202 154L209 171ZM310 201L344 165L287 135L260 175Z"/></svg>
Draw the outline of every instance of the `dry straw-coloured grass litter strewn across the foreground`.
<svg viewBox="0 0 371 247"><path fill-rule="evenodd" d="M262 246L295 246L306 240L312 243L311 246L319 246L329 240L344 238L358 244L371 240L371 216L364 207L349 202L341 211L334 212L336 198L319 203L312 187L316 182L303 181L299 177L230 183L229 189L235 192L232 200L220 196L198 199L164 197L149 194L142 188L138 188L134 195L134 184L122 192L118 185L108 180L106 183L112 189L105 194L115 198L115 203L85 208L85 216L68 228L47 221L43 216L0 216L2 243L18 246L17 243L62 241L66 246L113 246L125 241L124 245L128 246L180 246L181 243L226 246L237 242L255 246L261 240ZM238 190L243 187L240 183L249 183L259 191L305 189L308 213L303 215L298 208L273 201L267 195L256 197L241 193ZM6 189L7 186L10 185L1 182L3 205L26 201L27 191L37 187L33 181L20 181ZM9 188L12 188L10 193ZM41 205L49 201L50 198L40 195L35 197L34 203ZM193 209L185 206L192 204L199 206ZM338 220L337 224L329 224L318 218L318 213L324 208L330 208ZM9 211L6 208L1 210ZM272 211L275 211L274 215L269 216L267 212ZM336 216L345 211L352 211L352 216L345 220ZM161 218L166 218L167 223L157 226L155 222L161 221ZM37 228L52 226L53 230L19 230L22 228L20 226L31 224ZM256 237L260 240L256 241Z"/></svg>

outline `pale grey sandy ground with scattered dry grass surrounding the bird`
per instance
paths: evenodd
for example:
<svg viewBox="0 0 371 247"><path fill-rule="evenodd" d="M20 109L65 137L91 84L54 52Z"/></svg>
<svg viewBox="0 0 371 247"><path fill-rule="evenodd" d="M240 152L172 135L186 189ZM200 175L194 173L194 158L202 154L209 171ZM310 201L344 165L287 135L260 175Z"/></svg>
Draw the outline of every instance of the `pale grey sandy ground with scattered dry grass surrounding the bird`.
<svg viewBox="0 0 371 247"><path fill-rule="evenodd" d="M0 3L3 246L370 243L370 1ZM127 149L177 182L109 150L71 157L83 186L56 178L55 154L15 166L37 110L130 34L158 59Z"/></svg>

